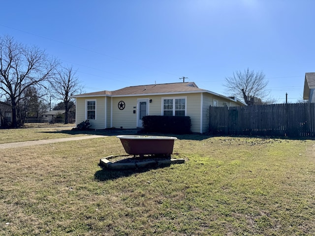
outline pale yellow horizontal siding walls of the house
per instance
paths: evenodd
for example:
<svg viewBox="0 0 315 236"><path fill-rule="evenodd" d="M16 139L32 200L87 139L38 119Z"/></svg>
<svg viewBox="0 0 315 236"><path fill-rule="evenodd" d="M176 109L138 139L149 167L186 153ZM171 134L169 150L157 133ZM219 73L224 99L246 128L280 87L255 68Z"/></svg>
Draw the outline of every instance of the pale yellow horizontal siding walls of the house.
<svg viewBox="0 0 315 236"><path fill-rule="evenodd" d="M139 100L148 101L147 114L163 115L163 98L186 98L186 116L191 119L191 132L205 133L209 127L209 106L217 100L217 106L238 106L236 102L207 92L179 93L166 95L143 96L91 96L76 98L76 124L87 119L87 101L96 101L96 118L90 119L91 128L123 128L133 129L137 126L139 116ZM149 102L151 100L151 102ZM125 102L125 108L119 109L120 101Z"/></svg>

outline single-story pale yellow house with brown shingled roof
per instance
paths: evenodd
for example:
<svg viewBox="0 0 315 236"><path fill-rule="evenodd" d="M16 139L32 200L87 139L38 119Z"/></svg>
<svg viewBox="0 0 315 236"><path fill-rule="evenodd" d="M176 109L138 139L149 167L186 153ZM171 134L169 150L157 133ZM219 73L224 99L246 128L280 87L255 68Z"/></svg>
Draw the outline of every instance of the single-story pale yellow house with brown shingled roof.
<svg viewBox="0 0 315 236"><path fill-rule="evenodd" d="M193 82L126 87L72 96L76 98L76 124L89 119L91 127L142 127L143 116L189 116L191 131L208 131L209 106L245 106Z"/></svg>

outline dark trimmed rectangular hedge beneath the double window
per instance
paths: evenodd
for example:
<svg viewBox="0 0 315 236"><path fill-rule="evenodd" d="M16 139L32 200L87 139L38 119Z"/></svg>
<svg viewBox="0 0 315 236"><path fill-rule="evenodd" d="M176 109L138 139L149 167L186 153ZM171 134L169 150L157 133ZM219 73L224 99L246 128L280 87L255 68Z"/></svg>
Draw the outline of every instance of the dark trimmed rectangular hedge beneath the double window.
<svg viewBox="0 0 315 236"><path fill-rule="evenodd" d="M190 117L180 116L145 116L142 118L144 132L189 134Z"/></svg>

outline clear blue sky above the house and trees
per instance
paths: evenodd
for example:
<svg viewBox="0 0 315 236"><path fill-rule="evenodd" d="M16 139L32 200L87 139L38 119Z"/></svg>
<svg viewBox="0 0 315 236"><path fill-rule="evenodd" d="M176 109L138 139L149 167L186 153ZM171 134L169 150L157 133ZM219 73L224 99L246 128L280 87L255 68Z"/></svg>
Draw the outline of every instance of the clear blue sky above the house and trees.
<svg viewBox="0 0 315 236"><path fill-rule="evenodd" d="M86 92L177 83L223 95L224 78L263 71L279 103L315 72L314 0L10 0L0 34L73 65Z"/></svg>

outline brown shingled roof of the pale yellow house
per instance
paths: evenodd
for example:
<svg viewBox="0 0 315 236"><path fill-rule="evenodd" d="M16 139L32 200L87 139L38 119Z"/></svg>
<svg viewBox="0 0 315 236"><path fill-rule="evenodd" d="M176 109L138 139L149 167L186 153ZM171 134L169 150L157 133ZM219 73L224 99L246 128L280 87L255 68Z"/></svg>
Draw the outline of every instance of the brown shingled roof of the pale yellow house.
<svg viewBox="0 0 315 236"><path fill-rule="evenodd" d="M99 92L84 93L84 94L75 95L74 97L101 96L101 95L122 96L122 95L176 93L176 92L192 92L192 91L205 91L205 90L199 89L198 86L193 82L186 82L186 83L131 86L131 87L123 88L123 89L118 89L115 91L104 90L104 91L99 91Z"/></svg>

